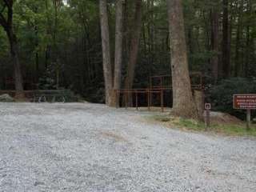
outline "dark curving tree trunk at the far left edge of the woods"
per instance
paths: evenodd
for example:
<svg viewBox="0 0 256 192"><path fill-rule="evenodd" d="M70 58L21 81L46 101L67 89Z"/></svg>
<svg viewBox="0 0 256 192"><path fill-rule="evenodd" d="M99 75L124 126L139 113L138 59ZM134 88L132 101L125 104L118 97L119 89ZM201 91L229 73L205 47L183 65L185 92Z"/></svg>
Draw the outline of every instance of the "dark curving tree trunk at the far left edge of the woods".
<svg viewBox="0 0 256 192"><path fill-rule="evenodd" d="M18 40L13 26L13 0L1 0L0 25L6 31L10 43L10 55L14 63L16 98L24 98L21 64L18 58ZM6 17L4 12L6 11Z"/></svg>

